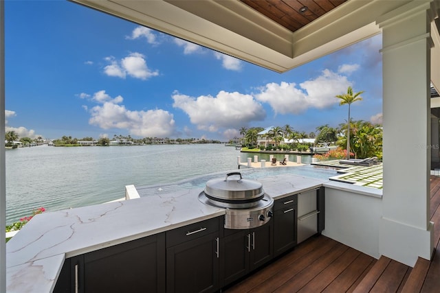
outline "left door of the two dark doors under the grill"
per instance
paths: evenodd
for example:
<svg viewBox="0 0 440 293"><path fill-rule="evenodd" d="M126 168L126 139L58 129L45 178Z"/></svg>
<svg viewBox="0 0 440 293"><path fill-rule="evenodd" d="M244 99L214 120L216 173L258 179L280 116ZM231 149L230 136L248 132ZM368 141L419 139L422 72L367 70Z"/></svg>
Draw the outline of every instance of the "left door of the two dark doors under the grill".
<svg viewBox="0 0 440 293"><path fill-rule="evenodd" d="M221 279L228 285L249 272L250 234L249 230L226 230L221 241Z"/></svg>

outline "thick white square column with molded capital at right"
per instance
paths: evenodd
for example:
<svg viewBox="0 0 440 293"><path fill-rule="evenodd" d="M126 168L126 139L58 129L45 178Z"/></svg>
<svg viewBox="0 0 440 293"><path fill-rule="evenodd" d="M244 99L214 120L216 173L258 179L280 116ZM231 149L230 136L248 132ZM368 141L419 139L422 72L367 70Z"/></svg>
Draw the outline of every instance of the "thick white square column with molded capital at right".
<svg viewBox="0 0 440 293"><path fill-rule="evenodd" d="M384 191L379 249L408 266L430 259L430 3L381 16ZM368 225L368 223L366 223Z"/></svg>

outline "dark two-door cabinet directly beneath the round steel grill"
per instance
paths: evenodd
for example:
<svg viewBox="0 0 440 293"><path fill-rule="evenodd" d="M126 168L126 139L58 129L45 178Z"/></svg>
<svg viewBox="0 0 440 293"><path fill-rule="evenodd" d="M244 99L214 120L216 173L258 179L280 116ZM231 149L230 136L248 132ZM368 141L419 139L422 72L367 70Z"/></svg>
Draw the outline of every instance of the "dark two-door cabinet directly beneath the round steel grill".
<svg viewBox="0 0 440 293"><path fill-rule="evenodd" d="M221 239L221 279L228 285L273 257L273 221L258 228L224 230Z"/></svg>

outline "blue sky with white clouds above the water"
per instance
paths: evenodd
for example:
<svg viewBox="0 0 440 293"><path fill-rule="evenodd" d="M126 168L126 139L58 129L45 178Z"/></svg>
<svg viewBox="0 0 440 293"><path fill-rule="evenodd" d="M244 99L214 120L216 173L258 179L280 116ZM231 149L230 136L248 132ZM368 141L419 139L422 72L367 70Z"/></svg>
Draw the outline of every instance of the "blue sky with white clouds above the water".
<svg viewBox="0 0 440 293"><path fill-rule="evenodd" d="M205 138L382 121L381 36L287 73L68 1L5 1L6 131L20 137Z"/></svg>

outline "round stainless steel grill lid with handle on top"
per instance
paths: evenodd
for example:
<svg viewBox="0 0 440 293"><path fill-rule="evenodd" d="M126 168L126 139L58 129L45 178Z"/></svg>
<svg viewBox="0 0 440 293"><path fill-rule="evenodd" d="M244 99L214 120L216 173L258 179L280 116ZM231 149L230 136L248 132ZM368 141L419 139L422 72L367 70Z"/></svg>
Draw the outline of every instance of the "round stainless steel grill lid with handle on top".
<svg viewBox="0 0 440 293"><path fill-rule="evenodd" d="M230 176L240 176L231 179ZM208 180L205 194L210 198L219 200L259 200L264 196L263 185L255 180L243 179L240 172L226 174L225 179L216 178Z"/></svg>

